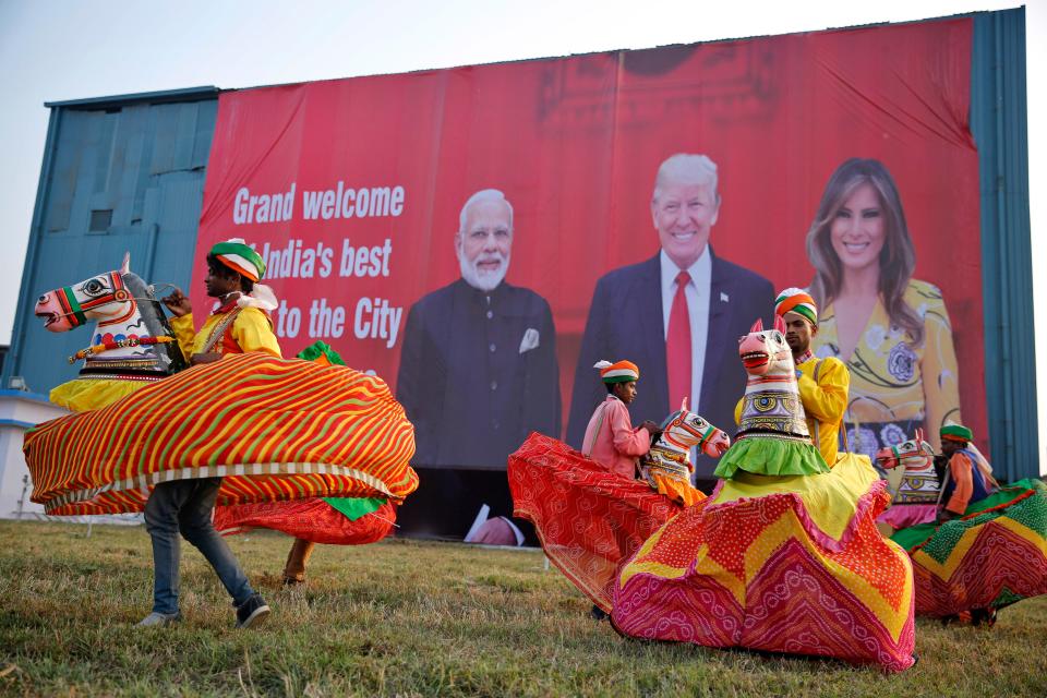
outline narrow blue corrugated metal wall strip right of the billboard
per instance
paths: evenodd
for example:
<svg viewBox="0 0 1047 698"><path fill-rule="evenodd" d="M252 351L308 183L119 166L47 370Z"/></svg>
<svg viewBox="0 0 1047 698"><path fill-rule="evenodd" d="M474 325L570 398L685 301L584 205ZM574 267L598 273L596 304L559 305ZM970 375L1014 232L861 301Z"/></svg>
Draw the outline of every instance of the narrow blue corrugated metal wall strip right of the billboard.
<svg viewBox="0 0 1047 698"><path fill-rule="evenodd" d="M985 388L992 466L1006 480L1040 469L1027 113L1025 10L976 15L971 128L982 180Z"/></svg>

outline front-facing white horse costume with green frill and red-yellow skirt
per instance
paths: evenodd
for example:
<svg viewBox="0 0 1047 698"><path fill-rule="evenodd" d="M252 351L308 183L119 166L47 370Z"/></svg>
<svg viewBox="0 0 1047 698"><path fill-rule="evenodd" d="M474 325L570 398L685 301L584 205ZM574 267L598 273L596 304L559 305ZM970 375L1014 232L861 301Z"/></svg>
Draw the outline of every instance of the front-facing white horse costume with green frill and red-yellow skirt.
<svg viewBox="0 0 1047 698"><path fill-rule="evenodd" d="M741 429L713 493L645 542L614 586L625 635L707 647L913 664L908 556L876 517L884 483L864 456L830 470L807 433L781 317L742 338Z"/></svg>

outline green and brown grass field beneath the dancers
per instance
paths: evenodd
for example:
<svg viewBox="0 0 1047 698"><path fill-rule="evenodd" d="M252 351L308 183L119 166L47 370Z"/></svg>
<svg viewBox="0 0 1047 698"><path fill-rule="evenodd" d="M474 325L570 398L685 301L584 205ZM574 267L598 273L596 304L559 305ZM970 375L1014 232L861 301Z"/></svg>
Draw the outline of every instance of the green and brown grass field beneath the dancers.
<svg viewBox="0 0 1047 698"><path fill-rule="evenodd" d="M137 527L0 522L4 696L1037 696L1047 695L1047 598L995 628L918 621L901 675L833 661L624 640L540 552L389 540L321 546L303 589L282 591L290 539L230 539L273 606L233 629L203 557L182 554L178 626L151 609Z"/></svg>

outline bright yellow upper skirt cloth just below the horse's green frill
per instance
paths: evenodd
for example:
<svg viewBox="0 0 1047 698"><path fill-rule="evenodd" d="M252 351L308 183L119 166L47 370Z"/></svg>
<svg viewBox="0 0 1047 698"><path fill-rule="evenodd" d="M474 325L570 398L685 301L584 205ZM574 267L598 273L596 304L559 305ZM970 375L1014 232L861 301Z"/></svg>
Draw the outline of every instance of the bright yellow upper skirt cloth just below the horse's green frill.
<svg viewBox="0 0 1047 698"><path fill-rule="evenodd" d="M739 470L732 479L722 481L723 486L710 504L794 493L803 500L815 526L832 539L840 540L854 516L858 500L878 479L868 456L841 454L830 472L817 476L755 476Z"/></svg>

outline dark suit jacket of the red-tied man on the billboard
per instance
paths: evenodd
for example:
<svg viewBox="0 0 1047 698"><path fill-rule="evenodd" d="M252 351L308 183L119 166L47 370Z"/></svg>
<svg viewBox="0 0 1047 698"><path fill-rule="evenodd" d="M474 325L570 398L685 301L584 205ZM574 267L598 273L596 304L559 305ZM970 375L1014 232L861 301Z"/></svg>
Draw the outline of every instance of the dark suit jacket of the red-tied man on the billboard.
<svg viewBox="0 0 1047 698"><path fill-rule="evenodd" d="M711 248L709 252L712 254ZM601 359L628 359L639 366L637 397L629 406L634 424L645 419L661 422L679 409L678 405L669 404L661 278L659 255L654 255L647 262L610 272L597 281L575 371L567 422L567 442L571 446L581 447L592 410L606 396L592 369ZM763 318L765 327L769 326L774 289L762 276L713 255L709 290L701 399L690 409L733 435L734 406L745 393L746 381L737 353L738 337L748 334L758 317ZM701 457L695 466L699 477L711 477L715 464Z"/></svg>

